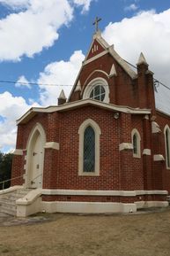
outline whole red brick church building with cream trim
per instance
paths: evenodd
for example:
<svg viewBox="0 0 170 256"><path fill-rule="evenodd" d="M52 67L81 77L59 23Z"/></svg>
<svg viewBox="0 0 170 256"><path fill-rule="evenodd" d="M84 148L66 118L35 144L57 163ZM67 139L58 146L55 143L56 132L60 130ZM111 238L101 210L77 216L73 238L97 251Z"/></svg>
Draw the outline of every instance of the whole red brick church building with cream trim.
<svg viewBox="0 0 170 256"><path fill-rule="evenodd" d="M143 53L134 71L97 30L70 97L17 121L12 186L31 189L18 215L167 206L170 116L153 81Z"/></svg>

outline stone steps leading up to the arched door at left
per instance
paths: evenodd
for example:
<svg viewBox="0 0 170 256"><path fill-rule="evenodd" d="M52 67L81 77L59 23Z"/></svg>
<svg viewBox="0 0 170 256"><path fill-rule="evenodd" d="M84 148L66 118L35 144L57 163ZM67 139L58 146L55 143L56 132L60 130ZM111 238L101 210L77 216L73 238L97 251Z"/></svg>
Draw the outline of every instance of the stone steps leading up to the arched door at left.
<svg viewBox="0 0 170 256"><path fill-rule="evenodd" d="M19 189L7 194L4 194L0 198L0 213L7 213L13 216L17 215L17 205L16 200L19 198L24 198L29 192L29 189Z"/></svg>

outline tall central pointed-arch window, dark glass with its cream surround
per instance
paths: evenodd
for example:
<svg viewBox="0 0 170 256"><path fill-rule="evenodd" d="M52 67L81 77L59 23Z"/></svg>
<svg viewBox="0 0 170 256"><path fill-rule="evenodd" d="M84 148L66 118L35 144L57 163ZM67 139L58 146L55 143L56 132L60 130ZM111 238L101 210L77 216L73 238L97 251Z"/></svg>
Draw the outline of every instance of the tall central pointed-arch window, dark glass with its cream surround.
<svg viewBox="0 0 170 256"><path fill-rule="evenodd" d="M100 127L91 120L85 120L79 130L78 175L100 175Z"/></svg>

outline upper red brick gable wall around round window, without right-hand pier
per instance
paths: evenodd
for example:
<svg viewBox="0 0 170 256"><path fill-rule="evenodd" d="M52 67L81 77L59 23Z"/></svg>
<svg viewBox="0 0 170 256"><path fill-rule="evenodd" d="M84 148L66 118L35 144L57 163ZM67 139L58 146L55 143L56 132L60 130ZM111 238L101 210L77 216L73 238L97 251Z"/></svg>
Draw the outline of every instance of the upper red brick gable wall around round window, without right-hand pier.
<svg viewBox="0 0 170 256"><path fill-rule="evenodd" d="M108 75L112 65L115 65L117 76L112 76L108 78L106 74L100 72L94 72L95 70L102 70ZM92 75L91 75L92 74ZM100 59L93 60L87 65L83 66L82 72L79 75L78 80L81 83L82 91L81 98L86 85L96 77L102 77L107 80L109 90L110 90L110 103L115 105L129 105L132 107L137 107L138 105L138 91L137 91L137 80L131 80L129 75L119 66L114 58L109 54L106 54ZM78 100L77 94L73 93L70 97L70 101Z"/></svg>

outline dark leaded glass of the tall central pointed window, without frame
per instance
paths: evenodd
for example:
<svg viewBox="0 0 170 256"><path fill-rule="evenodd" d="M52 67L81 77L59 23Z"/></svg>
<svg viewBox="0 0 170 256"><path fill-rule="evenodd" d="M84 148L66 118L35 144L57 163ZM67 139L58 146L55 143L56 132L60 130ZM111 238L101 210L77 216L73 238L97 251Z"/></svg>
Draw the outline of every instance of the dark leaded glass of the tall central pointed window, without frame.
<svg viewBox="0 0 170 256"><path fill-rule="evenodd" d="M95 171L95 132L91 126L85 128L83 170L84 172Z"/></svg>

